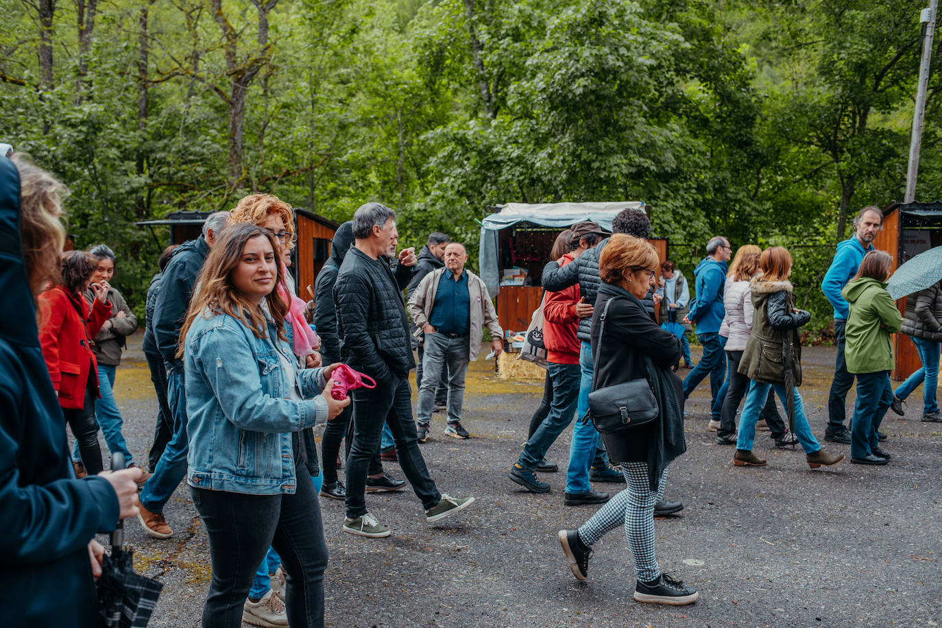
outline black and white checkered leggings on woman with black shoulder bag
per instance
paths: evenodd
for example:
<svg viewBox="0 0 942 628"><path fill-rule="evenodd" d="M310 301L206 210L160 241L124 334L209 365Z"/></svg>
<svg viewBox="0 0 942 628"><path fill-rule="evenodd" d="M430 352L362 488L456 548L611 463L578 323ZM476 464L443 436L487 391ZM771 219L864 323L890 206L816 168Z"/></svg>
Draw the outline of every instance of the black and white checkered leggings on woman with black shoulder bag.
<svg viewBox="0 0 942 628"><path fill-rule="evenodd" d="M664 494L667 469L660 476L658 491L651 491L646 462L625 462L622 473L625 474L627 488L609 499L589 521L582 524L579 539L592 546L624 524L638 579L651 582L660 576L658 558L654 555L654 507Z"/></svg>

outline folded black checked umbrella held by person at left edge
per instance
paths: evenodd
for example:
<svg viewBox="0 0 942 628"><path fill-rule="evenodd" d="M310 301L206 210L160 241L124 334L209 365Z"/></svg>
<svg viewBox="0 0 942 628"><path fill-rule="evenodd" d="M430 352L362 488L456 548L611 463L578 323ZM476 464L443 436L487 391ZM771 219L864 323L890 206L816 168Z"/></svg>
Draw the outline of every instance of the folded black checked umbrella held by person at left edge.
<svg viewBox="0 0 942 628"><path fill-rule="evenodd" d="M124 456L113 454L111 469L124 468ZM111 533L111 556L102 561L98 579L98 610L107 628L145 628L154 613L162 583L134 572L134 551L123 547L124 523Z"/></svg>

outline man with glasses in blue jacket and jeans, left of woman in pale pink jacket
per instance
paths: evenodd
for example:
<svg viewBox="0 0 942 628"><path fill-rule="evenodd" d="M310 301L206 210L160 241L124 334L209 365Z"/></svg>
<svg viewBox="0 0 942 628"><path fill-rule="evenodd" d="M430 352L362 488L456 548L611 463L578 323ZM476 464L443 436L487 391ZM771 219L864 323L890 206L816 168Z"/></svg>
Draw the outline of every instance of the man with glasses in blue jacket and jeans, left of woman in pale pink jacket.
<svg viewBox="0 0 942 628"><path fill-rule="evenodd" d="M704 354L684 379L684 397L689 397L697 384L708 375L710 408L716 405L716 395L726 376L726 356L723 353L726 339L720 335L720 325L726 315L723 290L726 286L726 263L732 252L729 240L722 235L707 242L707 257L693 269L696 298L690 305L690 314L687 314L688 320L685 321L697 324L697 340L704 346Z"/></svg>

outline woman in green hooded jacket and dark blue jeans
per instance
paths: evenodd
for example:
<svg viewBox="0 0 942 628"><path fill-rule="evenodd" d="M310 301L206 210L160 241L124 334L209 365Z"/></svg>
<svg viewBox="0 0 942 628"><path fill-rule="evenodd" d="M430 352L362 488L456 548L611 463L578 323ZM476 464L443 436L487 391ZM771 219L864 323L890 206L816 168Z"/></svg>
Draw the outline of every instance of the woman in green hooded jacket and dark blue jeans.
<svg viewBox="0 0 942 628"><path fill-rule="evenodd" d="M889 454L880 449L877 429L893 402L889 372L893 370L891 333L902 327L902 315L886 292L893 258L882 250L864 256L853 280L840 294L847 299L847 370L857 376L857 401L851 423L851 462L886 464Z"/></svg>

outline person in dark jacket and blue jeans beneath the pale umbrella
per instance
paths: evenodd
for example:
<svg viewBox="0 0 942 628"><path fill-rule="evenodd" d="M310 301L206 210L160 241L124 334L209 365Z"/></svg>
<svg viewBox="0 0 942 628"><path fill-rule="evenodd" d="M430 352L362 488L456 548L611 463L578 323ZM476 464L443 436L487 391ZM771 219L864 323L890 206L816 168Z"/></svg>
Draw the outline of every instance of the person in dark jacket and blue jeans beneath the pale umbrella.
<svg viewBox="0 0 942 628"><path fill-rule="evenodd" d="M894 391L890 410L902 416L902 402L922 384L922 420L942 422L942 412L935 400L942 351L942 282L906 297L901 331L916 345L922 366Z"/></svg>

